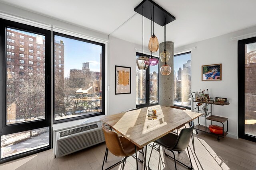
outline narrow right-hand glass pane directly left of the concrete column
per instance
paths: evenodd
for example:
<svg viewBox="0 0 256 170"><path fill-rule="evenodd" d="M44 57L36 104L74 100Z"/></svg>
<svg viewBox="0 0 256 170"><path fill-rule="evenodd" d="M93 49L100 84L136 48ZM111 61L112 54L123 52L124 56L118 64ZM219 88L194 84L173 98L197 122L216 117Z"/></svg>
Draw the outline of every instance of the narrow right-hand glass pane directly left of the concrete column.
<svg viewBox="0 0 256 170"><path fill-rule="evenodd" d="M149 66L148 69L149 69L149 78L150 78L149 103L154 104L154 103L158 103L158 64L155 66Z"/></svg>

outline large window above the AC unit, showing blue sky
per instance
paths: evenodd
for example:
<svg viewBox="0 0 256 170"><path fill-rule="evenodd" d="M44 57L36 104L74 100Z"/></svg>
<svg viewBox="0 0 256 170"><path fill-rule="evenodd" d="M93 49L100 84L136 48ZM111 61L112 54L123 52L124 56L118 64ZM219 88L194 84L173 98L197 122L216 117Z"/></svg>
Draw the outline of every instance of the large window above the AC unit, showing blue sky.
<svg viewBox="0 0 256 170"><path fill-rule="evenodd" d="M55 33L54 121L104 114L104 44Z"/></svg>

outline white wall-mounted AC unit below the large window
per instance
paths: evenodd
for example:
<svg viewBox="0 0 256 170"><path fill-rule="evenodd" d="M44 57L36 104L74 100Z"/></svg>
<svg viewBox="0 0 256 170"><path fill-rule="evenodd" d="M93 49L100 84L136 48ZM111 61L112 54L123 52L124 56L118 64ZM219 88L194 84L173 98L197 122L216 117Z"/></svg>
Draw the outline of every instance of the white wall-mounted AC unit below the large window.
<svg viewBox="0 0 256 170"><path fill-rule="evenodd" d="M101 121L57 131L55 133L55 156L56 158L65 156L104 141L105 137Z"/></svg>

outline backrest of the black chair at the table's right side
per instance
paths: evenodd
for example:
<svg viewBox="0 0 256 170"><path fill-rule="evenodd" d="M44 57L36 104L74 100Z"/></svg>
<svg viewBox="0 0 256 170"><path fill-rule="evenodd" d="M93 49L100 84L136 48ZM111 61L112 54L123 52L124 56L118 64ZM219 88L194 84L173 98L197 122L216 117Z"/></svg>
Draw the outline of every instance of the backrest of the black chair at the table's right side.
<svg viewBox="0 0 256 170"><path fill-rule="evenodd" d="M190 127L181 129L180 134L176 140L173 150L184 150L188 147L191 135L194 130L194 122L190 123Z"/></svg>

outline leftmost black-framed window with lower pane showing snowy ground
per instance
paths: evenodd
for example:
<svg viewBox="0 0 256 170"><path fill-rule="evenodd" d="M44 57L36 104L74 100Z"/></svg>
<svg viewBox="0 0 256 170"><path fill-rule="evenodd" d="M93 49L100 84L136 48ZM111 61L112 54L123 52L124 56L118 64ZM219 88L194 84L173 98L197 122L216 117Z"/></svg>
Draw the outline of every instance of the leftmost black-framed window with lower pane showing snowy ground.
<svg viewBox="0 0 256 170"><path fill-rule="evenodd" d="M0 39L1 164L50 149L52 126L50 83L46 82L50 78L50 31L2 19L0 22L0 37L4 37ZM33 37L35 46L47 39L43 45L47 71L34 69L34 61L28 56L34 48L29 47L28 37Z"/></svg>

